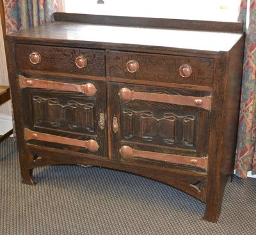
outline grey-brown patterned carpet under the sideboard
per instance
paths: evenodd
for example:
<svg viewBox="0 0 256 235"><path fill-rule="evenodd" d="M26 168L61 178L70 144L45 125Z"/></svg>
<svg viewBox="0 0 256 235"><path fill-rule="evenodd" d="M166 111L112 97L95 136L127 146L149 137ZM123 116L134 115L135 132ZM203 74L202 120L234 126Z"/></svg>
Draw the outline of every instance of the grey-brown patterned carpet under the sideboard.
<svg viewBox="0 0 256 235"><path fill-rule="evenodd" d="M0 234L255 234L256 179L228 183L218 224L205 206L150 179L97 167L35 170L20 183L17 146L0 144Z"/></svg>

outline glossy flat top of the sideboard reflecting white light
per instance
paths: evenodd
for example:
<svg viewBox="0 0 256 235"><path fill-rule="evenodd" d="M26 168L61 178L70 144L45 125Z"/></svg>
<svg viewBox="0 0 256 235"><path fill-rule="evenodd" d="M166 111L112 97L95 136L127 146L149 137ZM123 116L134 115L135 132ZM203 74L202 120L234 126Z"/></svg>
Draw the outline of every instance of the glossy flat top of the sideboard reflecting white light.
<svg viewBox="0 0 256 235"><path fill-rule="evenodd" d="M118 18L122 19L123 17L116 17L116 19ZM97 20L88 20L89 23L86 21L70 22L74 20L65 21L66 18L61 18L59 15L57 15L56 19L64 19L64 21L55 21L33 27L25 31L12 33L8 37L22 41L48 42L50 44L51 42L56 42L56 40L76 42L80 43L80 45L90 42L91 45L92 43L93 45L97 44L98 47L100 45L100 48L106 47L106 49L108 49L108 45L116 45L116 49L118 47L122 48L124 45L138 45L141 47L167 47L220 52L230 50L239 38L243 36L243 31L239 30L241 28L240 23L230 23L230 28L233 31L228 32L226 29L227 23L216 26L215 30L221 29L220 31L207 30L207 27L214 26L214 22L209 22L207 27L205 27L205 22L202 22L202 30L195 30L192 27L189 29L189 21L187 26L185 22L182 22L182 29L179 29L178 27L172 27L172 25L177 26L177 22L173 24L173 20L169 20L169 27L166 24L163 27L150 27L148 24L145 24L147 27L142 27L125 26L125 24L111 25L111 22L109 24L102 24L102 22L106 22L104 20L101 22L98 20L99 24L96 24ZM131 20L134 19L131 17ZM197 27L199 28L200 22L196 22L196 24L198 24ZM225 29L221 26L225 26Z"/></svg>

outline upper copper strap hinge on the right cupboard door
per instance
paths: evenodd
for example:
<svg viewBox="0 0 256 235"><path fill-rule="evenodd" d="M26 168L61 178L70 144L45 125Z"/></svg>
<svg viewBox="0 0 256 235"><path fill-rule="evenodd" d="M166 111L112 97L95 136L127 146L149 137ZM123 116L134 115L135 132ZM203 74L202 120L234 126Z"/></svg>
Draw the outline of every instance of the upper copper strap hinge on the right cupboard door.
<svg viewBox="0 0 256 235"><path fill-rule="evenodd" d="M128 88L120 89L118 95L122 100L147 100L152 102L173 103L175 105L188 105L211 110L211 96L196 97L182 95L168 95L159 93L145 93L139 91L131 91Z"/></svg>

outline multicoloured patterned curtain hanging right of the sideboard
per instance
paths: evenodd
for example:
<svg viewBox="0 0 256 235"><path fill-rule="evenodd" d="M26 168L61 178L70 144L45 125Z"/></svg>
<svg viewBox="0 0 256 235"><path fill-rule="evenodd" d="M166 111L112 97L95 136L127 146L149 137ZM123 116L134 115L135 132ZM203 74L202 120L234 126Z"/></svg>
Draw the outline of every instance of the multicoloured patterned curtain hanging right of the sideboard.
<svg viewBox="0 0 256 235"><path fill-rule="evenodd" d="M256 174L256 0L241 1L239 20L244 23L246 42L237 135L236 175L245 179L248 171Z"/></svg>

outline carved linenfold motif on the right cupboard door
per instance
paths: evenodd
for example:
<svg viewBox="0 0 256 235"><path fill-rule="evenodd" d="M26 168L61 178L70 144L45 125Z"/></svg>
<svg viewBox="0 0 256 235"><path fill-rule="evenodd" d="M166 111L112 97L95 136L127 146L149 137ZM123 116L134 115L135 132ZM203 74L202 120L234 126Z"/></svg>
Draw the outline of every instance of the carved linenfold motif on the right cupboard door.
<svg viewBox="0 0 256 235"><path fill-rule="evenodd" d="M178 116L166 112L162 118L154 117L150 111L134 111L123 109L122 130L124 139L140 138L151 142L154 138L161 139L165 144L172 145L178 140L186 146L195 144L195 117ZM176 131L176 128L182 130Z"/></svg>

